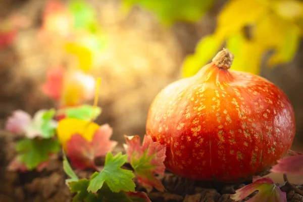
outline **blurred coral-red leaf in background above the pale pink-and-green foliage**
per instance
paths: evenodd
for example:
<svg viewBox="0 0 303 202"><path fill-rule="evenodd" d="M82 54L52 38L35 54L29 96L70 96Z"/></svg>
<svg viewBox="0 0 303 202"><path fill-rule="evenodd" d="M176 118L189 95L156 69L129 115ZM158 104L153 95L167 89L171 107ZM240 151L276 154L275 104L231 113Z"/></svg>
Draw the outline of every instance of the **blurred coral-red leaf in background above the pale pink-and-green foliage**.
<svg viewBox="0 0 303 202"><path fill-rule="evenodd" d="M46 73L46 78L47 81L42 84L42 92L54 100L59 100L63 90L63 67L59 66L49 69Z"/></svg>

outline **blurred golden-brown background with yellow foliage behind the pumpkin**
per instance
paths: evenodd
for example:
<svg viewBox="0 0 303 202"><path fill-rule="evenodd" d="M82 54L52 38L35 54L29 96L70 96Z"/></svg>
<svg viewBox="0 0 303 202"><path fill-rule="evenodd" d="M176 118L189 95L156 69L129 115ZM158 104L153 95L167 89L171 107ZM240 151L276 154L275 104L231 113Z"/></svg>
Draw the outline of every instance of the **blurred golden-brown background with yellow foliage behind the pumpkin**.
<svg viewBox="0 0 303 202"><path fill-rule="evenodd" d="M233 69L261 75L287 94L296 116L294 148L302 150L301 1L0 0L0 5L1 127L17 109L33 115L92 104L94 79L100 77L102 114L96 122L109 123L113 139L121 142L124 134L144 135L157 93L228 47L236 55ZM69 82L73 85L62 84Z"/></svg>

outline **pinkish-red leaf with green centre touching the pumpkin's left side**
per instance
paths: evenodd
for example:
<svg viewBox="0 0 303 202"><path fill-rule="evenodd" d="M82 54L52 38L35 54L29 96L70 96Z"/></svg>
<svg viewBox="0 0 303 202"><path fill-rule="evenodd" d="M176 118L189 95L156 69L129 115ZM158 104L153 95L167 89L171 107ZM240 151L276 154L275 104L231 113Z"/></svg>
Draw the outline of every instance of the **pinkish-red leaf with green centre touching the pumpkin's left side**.
<svg viewBox="0 0 303 202"><path fill-rule="evenodd" d="M128 161L134 169L138 183L140 183L149 192L155 187L159 191L165 188L155 174L164 175L166 158L166 146L159 142L154 142L149 135L145 135L142 146L140 146L140 137L125 136L127 145L126 154Z"/></svg>

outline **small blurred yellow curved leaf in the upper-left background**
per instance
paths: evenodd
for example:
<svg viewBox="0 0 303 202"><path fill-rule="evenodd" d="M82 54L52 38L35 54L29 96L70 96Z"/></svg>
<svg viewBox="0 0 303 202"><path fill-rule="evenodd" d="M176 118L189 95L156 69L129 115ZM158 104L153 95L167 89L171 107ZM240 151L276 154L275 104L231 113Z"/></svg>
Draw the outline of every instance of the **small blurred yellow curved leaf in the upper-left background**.
<svg viewBox="0 0 303 202"><path fill-rule="evenodd" d="M67 43L65 49L68 53L74 54L79 61L79 68L83 71L88 71L92 66L91 51L80 44Z"/></svg>

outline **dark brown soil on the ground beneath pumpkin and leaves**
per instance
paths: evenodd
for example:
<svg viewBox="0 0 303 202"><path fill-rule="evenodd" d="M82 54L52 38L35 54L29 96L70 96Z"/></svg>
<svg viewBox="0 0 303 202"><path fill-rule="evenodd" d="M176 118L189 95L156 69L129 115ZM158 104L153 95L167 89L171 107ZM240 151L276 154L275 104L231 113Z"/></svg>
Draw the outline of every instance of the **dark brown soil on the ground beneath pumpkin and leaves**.
<svg viewBox="0 0 303 202"><path fill-rule="evenodd" d="M113 153L121 151L117 147ZM67 202L71 201L72 194L65 184L66 174L62 167L62 156L51 160L51 163L42 171L26 173L10 172L8 163L15 156L14 136L5 131L0 131L0 202ZM125 165L127 166L127 165ZM76 171L80 178L89 178L93 171ZM161 180L167 192L151 191L148 197L157 202L201 202L233 201L230 194L235 189L250 182L241 184L219 184L188 180L170 172L166 172ZM297 186L303 190L303 186ZM287 186L281 188L287 193L288 201L303 202L303 196L295 193ZM137 190L145 191L137 186ZM254 195L254 194L252 194ZM248 199L248 198L246 198Z"/></svg>

